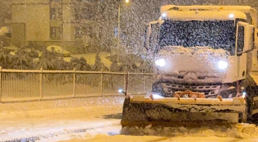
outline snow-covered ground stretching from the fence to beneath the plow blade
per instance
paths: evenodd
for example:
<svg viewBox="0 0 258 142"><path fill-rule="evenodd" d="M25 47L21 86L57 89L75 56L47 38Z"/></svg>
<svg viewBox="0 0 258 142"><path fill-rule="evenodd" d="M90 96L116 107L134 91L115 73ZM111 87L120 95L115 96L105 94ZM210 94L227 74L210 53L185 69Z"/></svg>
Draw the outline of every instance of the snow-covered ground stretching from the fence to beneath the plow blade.
<svg viewBox="0 0 258 142"><path fill-rule="evenodd" d="M123 101L120 96L0 104L0 141L29 138L36 142L258 142L257 135L245 139L222 134L215 137L219 132L204 129L178 128L171 132L174 137L127 135L120 126ZM135 133L151 134L151 130L146 131ZM233 129L224 132L231 136L239 133Z"/></svg>

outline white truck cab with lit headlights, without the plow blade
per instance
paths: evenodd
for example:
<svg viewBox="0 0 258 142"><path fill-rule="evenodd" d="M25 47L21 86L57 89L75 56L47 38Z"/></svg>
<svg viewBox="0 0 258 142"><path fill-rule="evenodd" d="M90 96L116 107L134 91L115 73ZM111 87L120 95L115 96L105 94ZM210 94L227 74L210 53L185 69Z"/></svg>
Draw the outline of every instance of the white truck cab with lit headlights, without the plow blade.
<svg viewBox="0 0 258 142"><path fill-rule="evenodd" d="M162 6L145 29L144 46L156 65L152 92L248 95L252 110L258 109L256 21L249 6Z"/></svg>

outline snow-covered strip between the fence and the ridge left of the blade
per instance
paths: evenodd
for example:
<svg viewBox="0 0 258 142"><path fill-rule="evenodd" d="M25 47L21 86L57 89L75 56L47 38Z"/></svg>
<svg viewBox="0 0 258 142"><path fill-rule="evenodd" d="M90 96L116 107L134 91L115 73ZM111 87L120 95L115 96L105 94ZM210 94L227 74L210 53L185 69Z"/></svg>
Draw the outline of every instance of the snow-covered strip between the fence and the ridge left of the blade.
<svg viewBox="0 0 258 142"><path fill-rule="evenodd" d="M118 126L123 97L0 104L0 141L46 138Z"/></svg>

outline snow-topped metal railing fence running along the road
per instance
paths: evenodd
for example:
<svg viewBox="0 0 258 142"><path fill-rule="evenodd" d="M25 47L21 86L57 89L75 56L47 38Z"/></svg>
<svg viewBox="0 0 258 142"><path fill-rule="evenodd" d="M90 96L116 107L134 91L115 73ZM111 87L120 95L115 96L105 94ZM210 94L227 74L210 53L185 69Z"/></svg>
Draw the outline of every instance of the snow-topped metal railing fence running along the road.
<svg viewBox="0 0 258 142"><path fill-rule="evenodd" d="M151 91L151 73L113 73L95 71L14 70L0 67L0 102L33 101L58 98L131 95Z"/></svg>

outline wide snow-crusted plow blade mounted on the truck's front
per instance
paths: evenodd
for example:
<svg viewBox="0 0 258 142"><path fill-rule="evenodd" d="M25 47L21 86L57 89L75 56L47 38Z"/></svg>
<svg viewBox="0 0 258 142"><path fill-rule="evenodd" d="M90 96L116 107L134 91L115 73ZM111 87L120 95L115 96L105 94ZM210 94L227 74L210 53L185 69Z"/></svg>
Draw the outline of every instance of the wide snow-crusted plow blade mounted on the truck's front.
<svg viewBox="0 0 258 142"><path fill-rule="evenodd" d="M245 122L246 102L242 97L217 98L153 98L126 97L123 106L122 128L146 127L196 127L201 125L227 125Z"/></svg>

